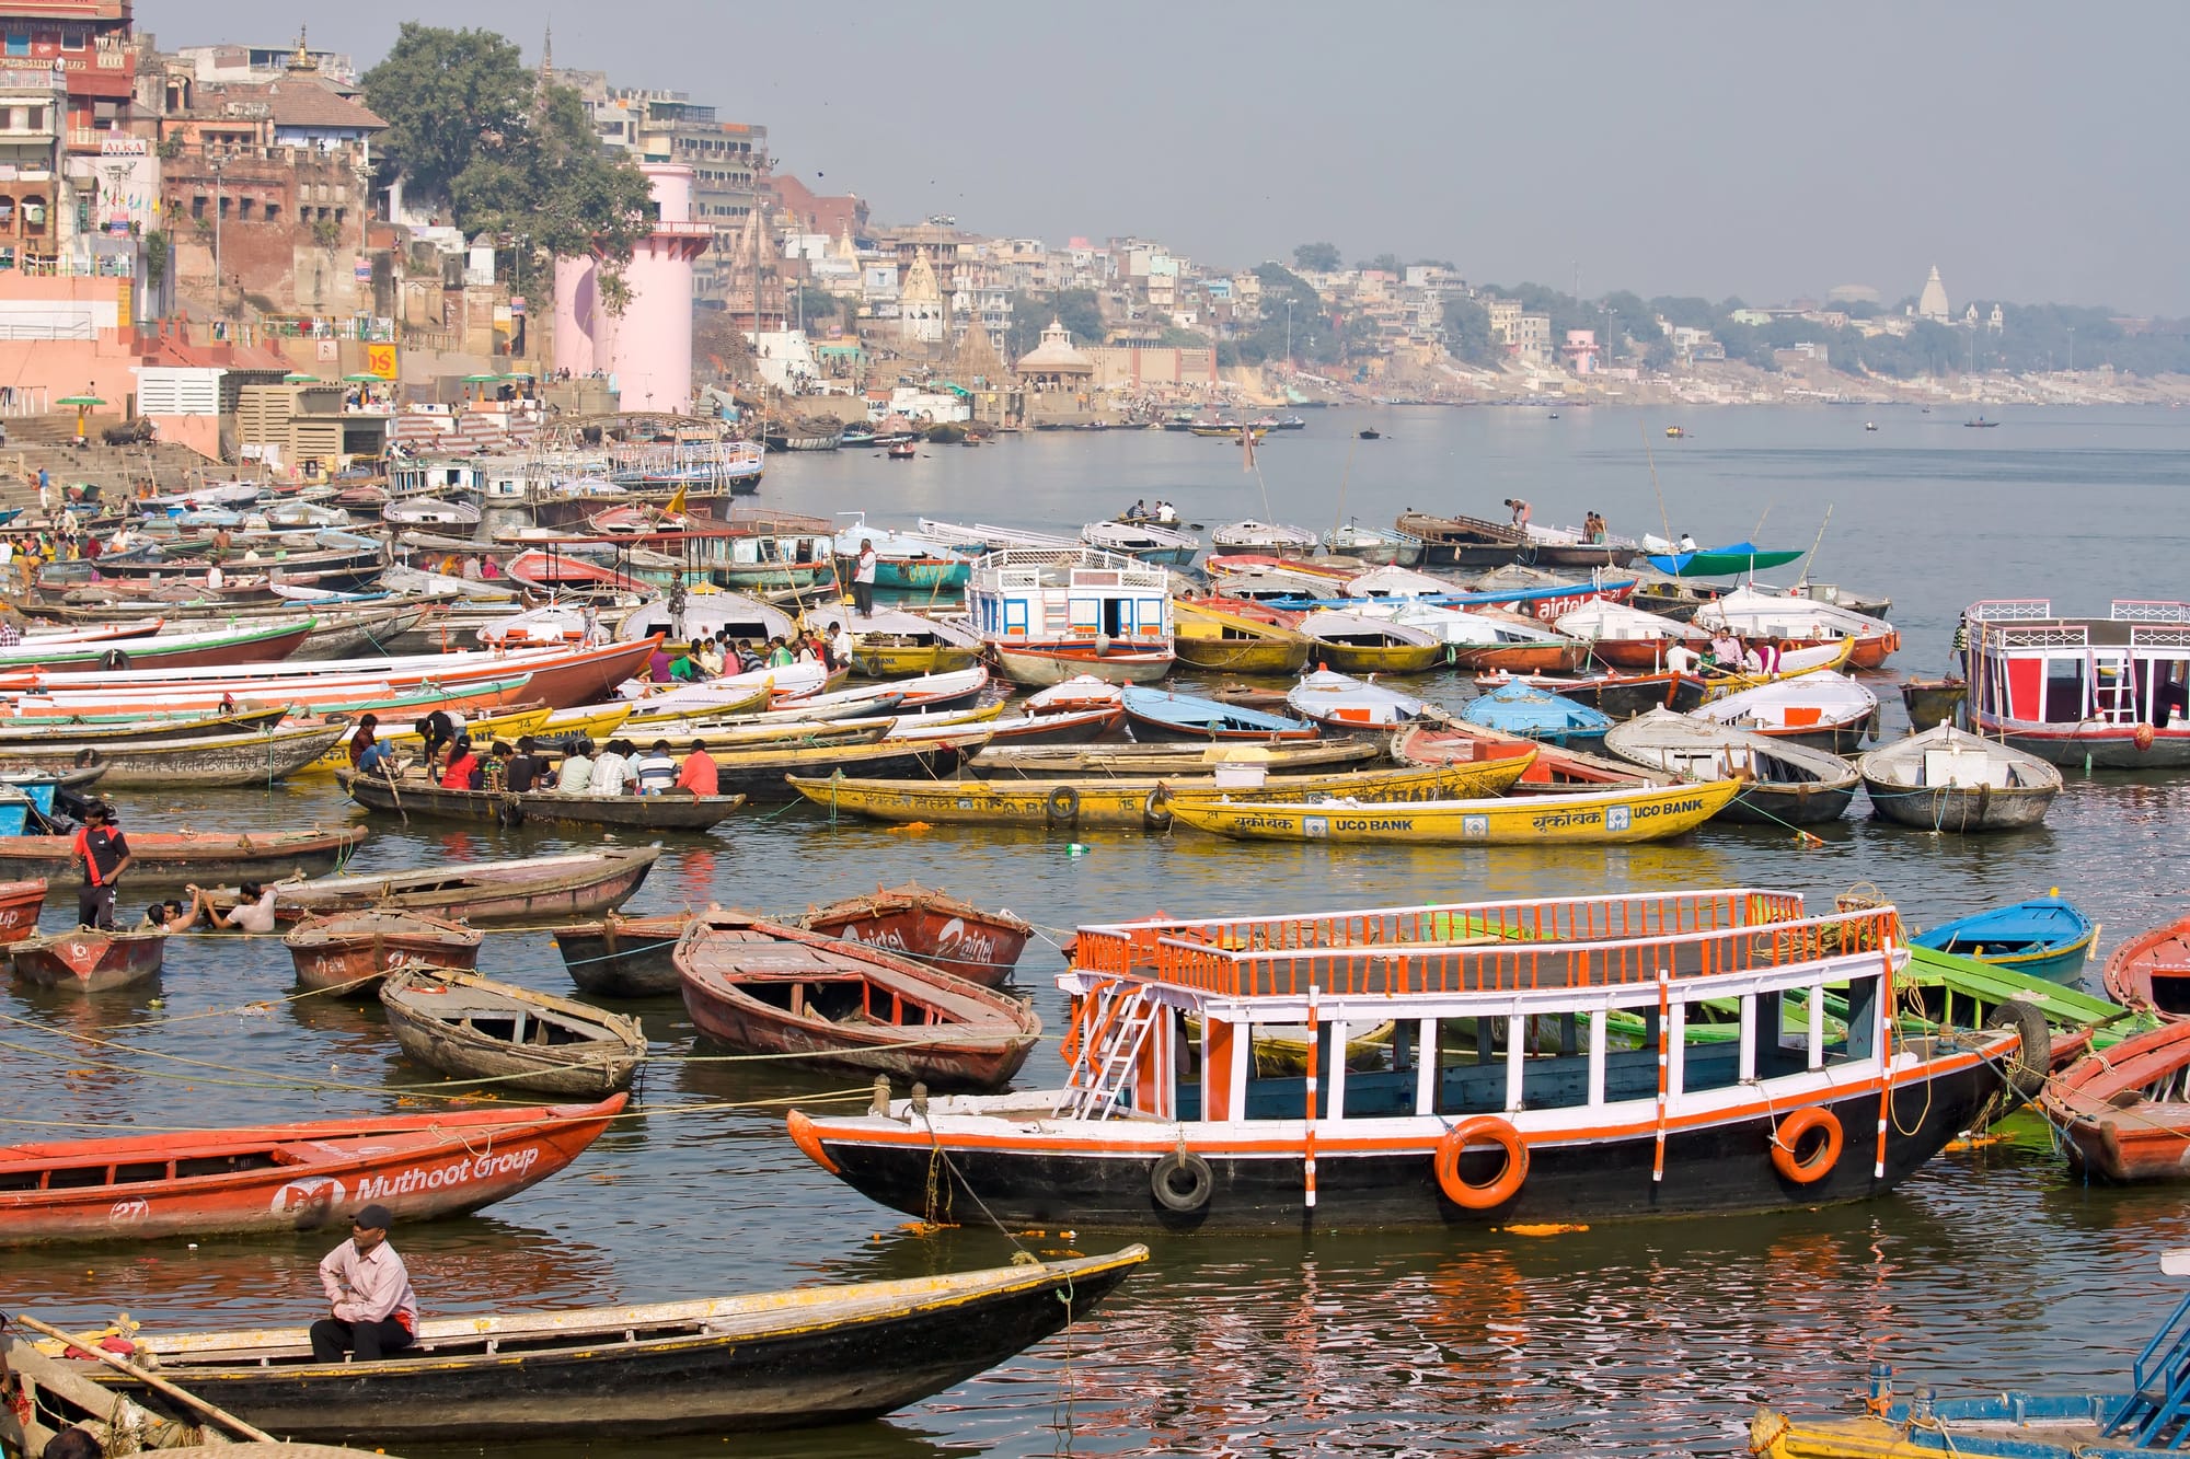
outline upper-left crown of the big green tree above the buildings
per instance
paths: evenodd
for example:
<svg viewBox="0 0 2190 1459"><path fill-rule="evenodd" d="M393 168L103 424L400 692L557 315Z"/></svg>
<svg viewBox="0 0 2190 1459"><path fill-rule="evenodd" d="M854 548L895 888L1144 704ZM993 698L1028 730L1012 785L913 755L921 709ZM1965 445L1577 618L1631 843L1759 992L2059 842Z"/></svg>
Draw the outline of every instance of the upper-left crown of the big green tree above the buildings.
<svg viewBox="0 0 2190 1459"><path fill-rule="evenodd" d="M405 20L388 59L366 72L366 105L388 131L374 138L383 175L429 199L449 199L482 151L526 125L532 74L493 31L445 31Z"/></svg>

